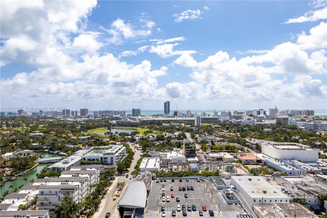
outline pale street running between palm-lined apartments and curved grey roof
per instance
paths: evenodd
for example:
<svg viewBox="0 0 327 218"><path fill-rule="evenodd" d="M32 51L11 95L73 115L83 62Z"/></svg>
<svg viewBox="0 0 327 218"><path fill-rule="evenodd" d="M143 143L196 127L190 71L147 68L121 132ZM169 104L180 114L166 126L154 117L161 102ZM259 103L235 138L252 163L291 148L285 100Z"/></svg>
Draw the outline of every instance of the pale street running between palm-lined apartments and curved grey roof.
<svg viewBox="0 0 327 218"><path fill-rule="evenodd" d="M140 150L136 150L136 149L134 149L134 147L131 147L131 148L133 149L135 154L134 154L134 160L132 160L132 164L131 164L131 166L129 168L129 172L128 172L129 177L132 176L130 174L130 172L132 172L134 170L134 166L136 165L136 162L140 158L140 155L141 155ZM122 196L124 195L124 193L125 193L126 189L128 188L129 184L133 181L133 179L129 179L129 177L128 178L126 178L125 176L117 176L116 177L115 183L113 184L114 187L111 190L109 190L106 193L106 196L102 199L101 204L99 206L99 209L94 215L95 218L103 218L103 217L105 217L107 212L111 212L110 217L118 217L118 213L117 213L118 203L121 200ZM114 194L115 187L116 187L116 184L118 182L125 182L125 186L124 186L124 188L123 188L123 190L121 192L120 197L113 201L112 200L112 195Z"/></svg>

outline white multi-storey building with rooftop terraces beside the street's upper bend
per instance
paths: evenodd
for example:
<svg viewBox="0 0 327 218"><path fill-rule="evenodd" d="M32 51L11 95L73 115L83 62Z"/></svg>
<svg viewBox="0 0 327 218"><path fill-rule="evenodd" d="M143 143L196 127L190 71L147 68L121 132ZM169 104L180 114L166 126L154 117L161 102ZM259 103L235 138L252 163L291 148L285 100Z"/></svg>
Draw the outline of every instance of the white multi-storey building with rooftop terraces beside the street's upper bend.
<svg viewBox="0 0 327 218"><path fill-rule="evenodd" d="M123 145L112 145L107 149L95 149L81 156L82 160L100 161L104 165L116 165L124 160L126 156L126 147Z"/></svg>

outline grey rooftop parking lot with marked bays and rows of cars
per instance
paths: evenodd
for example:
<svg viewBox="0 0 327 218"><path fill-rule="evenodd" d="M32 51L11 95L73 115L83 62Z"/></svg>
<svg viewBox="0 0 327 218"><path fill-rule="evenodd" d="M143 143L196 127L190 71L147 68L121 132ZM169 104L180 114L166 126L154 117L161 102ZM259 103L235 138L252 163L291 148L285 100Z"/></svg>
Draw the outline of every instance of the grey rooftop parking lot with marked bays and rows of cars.
<svg viewBox="0 0 327 218"><path fill-rule="evenodd" d="M165 191L162 191L163 184L165 185ZM174 191L170 191L171 186ZM193 186L194 190L179 191L179 186L185 188ZM163 192L165 197L170 197L170 202L162 201ZM171 198L172 193L175 195L174 198ZM184 197L185 193L188 194L188 198ZM180 198L180 202L176 201L177 197ZM193 204L197 210L187 211L187 206L192 207ZM166 182L152 182L145 217L158 217L158 214L159 217L162 217L161 207L164 207L166 217L172 217L172 210L176 210L176 217L183 217L182 212L177 211L177 205L181 207L185 205L187 215L184 217L199 217L199 210L202 211L203 205L207 208L207 211L203 211L203 217L210 217L209 210L214 211L215 217L236 217L237 213L242 212L239 205L228 205L221 195L221 190L217 190L210 181L204 182L201 180L201 182L197 182L195 179L190 179L189 182L186 182L185 179L182 179L182 182L179 182L179 179L175 179L174 182L171 182L170 179L167 179Z"/></svg>

